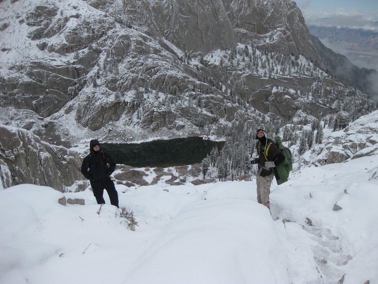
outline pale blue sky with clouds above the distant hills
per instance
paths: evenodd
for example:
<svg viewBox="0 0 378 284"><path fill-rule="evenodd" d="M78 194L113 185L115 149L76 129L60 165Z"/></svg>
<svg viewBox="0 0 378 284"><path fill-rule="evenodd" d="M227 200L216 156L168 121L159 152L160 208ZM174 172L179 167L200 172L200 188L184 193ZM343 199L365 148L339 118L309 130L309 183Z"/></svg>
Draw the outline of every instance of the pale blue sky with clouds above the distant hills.
<svg viewBox="0 0 378 284"><path fill-rule="evenodd" d="M378 0L296 0L307 25L378 31Z"/></svg>

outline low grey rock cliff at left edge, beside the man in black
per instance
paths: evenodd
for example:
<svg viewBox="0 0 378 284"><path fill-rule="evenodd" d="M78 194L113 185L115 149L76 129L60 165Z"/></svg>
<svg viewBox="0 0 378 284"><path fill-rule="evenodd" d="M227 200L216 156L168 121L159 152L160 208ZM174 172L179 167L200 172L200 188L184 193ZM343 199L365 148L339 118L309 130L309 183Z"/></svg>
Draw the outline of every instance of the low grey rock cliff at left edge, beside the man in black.
<svg viewBox="0 0 378 284"><path fill-rule="evenodd" d="M24 129L0 126L0 131L2 188L31 183L64 192L83 179L78 153L45 143Z"/></svg>

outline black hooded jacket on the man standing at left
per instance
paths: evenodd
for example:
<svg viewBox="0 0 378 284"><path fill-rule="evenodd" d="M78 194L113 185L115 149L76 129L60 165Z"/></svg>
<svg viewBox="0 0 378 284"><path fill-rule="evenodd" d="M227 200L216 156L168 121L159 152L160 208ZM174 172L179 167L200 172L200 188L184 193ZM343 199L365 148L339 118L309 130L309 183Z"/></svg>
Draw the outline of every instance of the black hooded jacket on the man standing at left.
<svg viewBox="0 0 378 284"><path fill-rule="evenodd" d="M93 139L89 143L90 153L84 158L81 165L81 173L91 182L101 181L110 177L116 169L116 163L112 156L102 151L93 151L93 147L100 145L99 141Z"/></svg>

